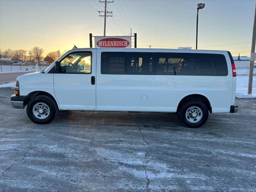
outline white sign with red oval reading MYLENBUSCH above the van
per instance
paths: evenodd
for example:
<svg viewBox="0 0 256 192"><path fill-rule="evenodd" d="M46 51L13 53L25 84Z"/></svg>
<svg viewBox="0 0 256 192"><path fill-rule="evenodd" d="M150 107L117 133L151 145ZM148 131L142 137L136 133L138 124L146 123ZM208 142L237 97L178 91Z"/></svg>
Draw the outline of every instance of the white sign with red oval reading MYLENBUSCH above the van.
<svg viewBox="0 0 256 192"><path fill-rule="evenodd" d="M130 48L130 36L95 36L96 48Z"/></svg>

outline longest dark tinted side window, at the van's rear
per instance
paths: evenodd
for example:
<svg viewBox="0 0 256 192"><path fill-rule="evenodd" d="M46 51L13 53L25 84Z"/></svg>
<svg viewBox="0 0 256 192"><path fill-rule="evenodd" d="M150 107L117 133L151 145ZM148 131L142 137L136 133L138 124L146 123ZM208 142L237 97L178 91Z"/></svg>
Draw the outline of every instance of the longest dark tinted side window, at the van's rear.
<svg viewBox="0 0 256 192"><path fill-rule="evenodd" d="M157 53L156 75L227 76L222 54Z"/></svg>

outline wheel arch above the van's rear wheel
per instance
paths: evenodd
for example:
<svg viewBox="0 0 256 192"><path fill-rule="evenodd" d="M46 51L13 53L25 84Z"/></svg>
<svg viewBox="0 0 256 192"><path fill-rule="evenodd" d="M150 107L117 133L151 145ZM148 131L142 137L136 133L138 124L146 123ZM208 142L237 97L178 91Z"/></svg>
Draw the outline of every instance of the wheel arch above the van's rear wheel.
<svg viewBox="0 0 256 192"><path fill-rule="evenodd" d="M179 111L182 104L189 100L199 100L199 101L204 102L206 104L208 110L210 111L210 113L212 113L212 102L211 102L210 98L208 96L206 96L205 94L201 94L201 93L193 93L193 94L184 95L178 102L177 112Z"/></svg>

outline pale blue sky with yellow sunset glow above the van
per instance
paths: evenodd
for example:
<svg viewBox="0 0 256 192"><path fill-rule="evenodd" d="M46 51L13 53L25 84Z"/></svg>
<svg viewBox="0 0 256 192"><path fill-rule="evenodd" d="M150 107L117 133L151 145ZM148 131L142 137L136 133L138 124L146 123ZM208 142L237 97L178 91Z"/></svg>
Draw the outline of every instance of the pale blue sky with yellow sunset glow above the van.
<svg viewBox="0 0 256 192"><path fill-rule="evenodd" d="M108 4L114 17L107 18L106 35L128 35L132 27L139 48L194 49L197 3L206 4L199 10L198 49L250 56L255 0L114 0ZM98 0L0 0L0 48L40 46L45 56L74 44L89 47L89 33L103 35L104 18L97 10L104 10Z"/></svg>

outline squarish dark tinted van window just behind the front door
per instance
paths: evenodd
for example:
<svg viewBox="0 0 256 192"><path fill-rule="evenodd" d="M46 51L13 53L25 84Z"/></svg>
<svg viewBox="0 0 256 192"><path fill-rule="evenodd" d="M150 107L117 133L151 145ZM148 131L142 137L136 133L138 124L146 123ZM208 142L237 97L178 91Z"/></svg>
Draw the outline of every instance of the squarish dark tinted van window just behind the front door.
<svg viewBox="0 0 256 192"><path fill-rule="evenodd" d="M126 52L102 52L101 74L126 74Z"/></svg>

